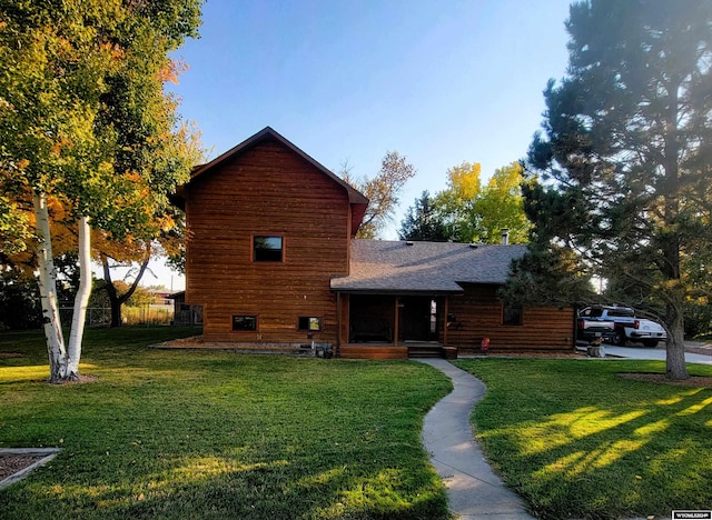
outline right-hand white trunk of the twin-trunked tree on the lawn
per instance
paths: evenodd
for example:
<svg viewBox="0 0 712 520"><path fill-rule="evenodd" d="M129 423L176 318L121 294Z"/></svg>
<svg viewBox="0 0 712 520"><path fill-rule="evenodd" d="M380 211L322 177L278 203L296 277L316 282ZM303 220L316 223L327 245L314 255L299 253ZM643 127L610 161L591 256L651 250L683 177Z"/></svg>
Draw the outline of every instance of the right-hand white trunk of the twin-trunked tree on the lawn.
<svg viewBox="0 0 712 520"><path fill-rule="evenodd" d="M67 346L66 379L79 378L79 359L81 358L81 341L85 334L87 306L91 294L91 229L89 218L79 219L79 290L75 297L75 311L71 318L71 331Z"/></svg>

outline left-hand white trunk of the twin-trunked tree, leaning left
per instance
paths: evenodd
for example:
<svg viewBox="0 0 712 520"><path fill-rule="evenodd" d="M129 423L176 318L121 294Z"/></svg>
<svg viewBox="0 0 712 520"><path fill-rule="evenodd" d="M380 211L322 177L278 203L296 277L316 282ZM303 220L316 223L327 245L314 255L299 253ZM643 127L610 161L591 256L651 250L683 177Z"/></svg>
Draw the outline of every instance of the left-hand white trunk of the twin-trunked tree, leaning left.
<svg viewBox="0 0 712 520"><path fill-rule="evenodd" d="M37 221L37 258L40 274L40 301L42 323L49 354L49 380L60 382L67 377L67 351L57 304L57 271L52 259L52 241L49 230L47 194L34 191L34 217Z"/></svg>

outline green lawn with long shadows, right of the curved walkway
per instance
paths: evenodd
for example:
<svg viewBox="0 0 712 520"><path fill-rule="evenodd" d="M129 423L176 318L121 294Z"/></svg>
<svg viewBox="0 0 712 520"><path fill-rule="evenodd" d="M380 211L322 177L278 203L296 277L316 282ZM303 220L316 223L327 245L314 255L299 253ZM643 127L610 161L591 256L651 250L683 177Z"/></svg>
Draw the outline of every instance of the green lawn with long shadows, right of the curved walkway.
<svg viewBox="0 0 712 520"><path fill-rule="evenodd" d="M623 379L661 362L459 360L487 384L473 422L541 518L670 518L712 508L712 390ZM690 367L712 376L712 367Z"/></svg>

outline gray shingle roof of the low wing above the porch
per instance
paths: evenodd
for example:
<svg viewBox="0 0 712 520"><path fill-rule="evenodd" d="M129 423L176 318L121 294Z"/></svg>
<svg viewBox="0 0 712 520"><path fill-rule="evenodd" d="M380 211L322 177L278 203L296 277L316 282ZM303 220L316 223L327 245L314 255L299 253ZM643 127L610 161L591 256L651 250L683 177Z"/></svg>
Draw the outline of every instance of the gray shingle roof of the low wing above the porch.
<svg viewBox="0 0 712 520"><path fill-rule="evenodd" d="M504 283L526 246L352 240L350 274L336 291L462 292L463 283Z"/></svg>

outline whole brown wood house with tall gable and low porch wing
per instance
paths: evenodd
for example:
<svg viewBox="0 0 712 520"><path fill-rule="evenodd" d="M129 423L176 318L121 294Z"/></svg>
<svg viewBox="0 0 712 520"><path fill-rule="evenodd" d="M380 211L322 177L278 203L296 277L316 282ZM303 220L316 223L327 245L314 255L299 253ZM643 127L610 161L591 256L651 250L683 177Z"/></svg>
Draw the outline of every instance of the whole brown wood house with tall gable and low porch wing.
<svg viewBox="0 0 712 520"><path fill-rule="evenodd" d="M572 309L497 298L522 246L358 240L368 200L271 128L194 170L186 303L204 340L349 358L571 350ZM229 344L228 344L229 343Z"/></svg>

